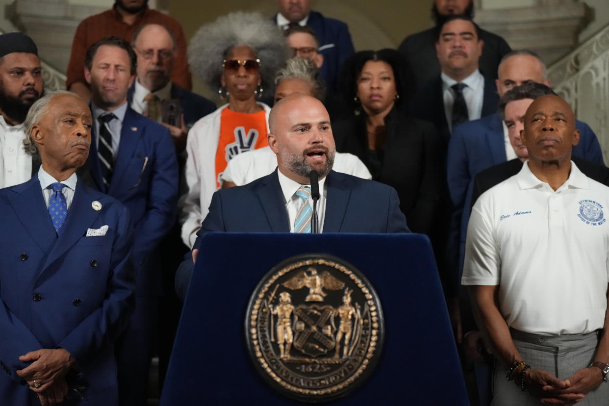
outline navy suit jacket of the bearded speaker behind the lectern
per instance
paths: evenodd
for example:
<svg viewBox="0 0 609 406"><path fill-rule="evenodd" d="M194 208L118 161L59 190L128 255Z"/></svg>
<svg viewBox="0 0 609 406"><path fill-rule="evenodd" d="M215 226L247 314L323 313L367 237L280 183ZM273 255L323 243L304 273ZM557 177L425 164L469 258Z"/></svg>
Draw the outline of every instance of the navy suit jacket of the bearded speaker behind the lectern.
<svg viewBox="0 0 609 406"><path fill-rule="evenodd" d="M334 171L328 173L326 187L323 233L410 233L393 187ZM199 248L201 237L209 231L289 233L277 170L244 186L214 193L193 249ZM192 254L188 253L175 276L182 299L193 269Z"/></svg>

